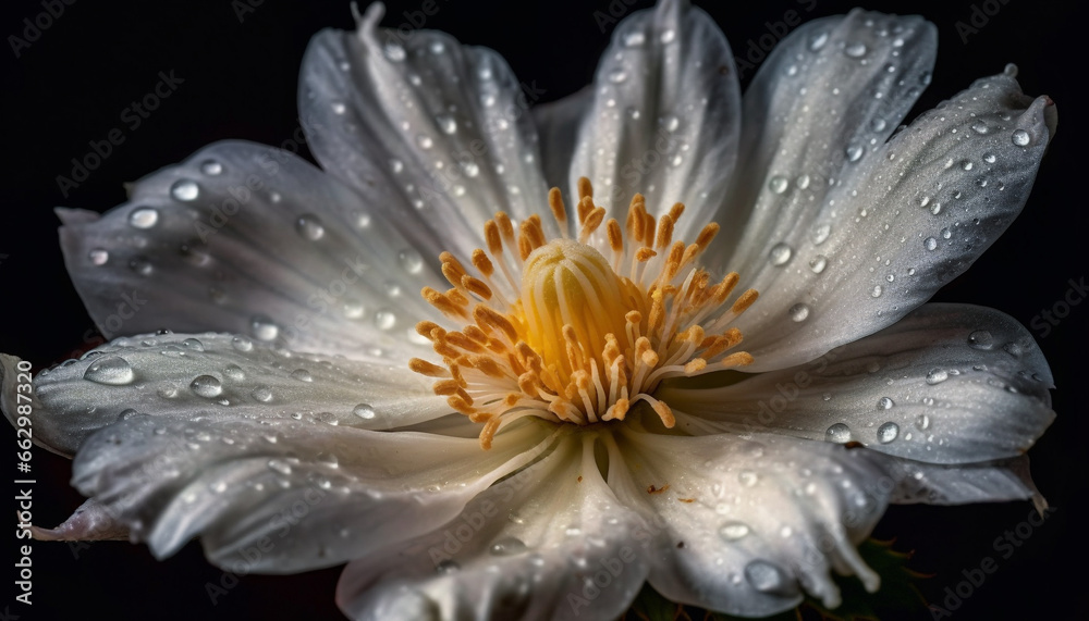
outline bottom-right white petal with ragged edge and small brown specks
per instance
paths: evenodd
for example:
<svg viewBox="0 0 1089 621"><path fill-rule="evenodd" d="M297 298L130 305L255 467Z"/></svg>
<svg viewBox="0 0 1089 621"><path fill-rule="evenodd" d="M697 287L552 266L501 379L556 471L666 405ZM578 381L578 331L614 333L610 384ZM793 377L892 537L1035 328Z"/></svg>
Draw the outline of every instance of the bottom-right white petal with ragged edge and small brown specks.
<svg viewBox="0 0 1089 621"><path fill-rule="evenodd" d="M879 456L795 438L731 434L617 438L609 484L656 517L650 584L666 598L762 617L802 600L840 603L829 569L879 577L855 544L877 523L894 483Z"/></svg>

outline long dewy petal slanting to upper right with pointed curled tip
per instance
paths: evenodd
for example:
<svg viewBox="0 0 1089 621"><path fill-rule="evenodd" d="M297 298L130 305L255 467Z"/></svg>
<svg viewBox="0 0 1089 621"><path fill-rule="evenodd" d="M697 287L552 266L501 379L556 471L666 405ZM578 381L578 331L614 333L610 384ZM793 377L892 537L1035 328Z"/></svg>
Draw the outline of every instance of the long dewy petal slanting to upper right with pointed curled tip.
<svg viewBox="0 0 1089 621"><path fill-rule="evenodd" d="M1025 204L1053 116L1007 75L978 80L871 147L823 199L754 233L764 248L731 268L761 294L737 322L751 369L877 332L967 270Z"/></svg>

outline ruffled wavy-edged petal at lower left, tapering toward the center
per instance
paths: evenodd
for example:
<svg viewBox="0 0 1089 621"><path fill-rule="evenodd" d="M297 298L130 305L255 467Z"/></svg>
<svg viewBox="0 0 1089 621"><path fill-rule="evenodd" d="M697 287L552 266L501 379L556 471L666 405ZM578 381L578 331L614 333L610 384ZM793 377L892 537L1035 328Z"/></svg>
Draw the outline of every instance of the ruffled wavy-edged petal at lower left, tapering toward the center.
<svg viewBox="0 0 1089 621"><path fill-rule="evenodd" d="M220 567L291 573L359 558L446 522L530 461L548 431L511 430L484 451L476 439L287 414L136 417L81 447L73 484L157 557L199 535Z"/></svg>

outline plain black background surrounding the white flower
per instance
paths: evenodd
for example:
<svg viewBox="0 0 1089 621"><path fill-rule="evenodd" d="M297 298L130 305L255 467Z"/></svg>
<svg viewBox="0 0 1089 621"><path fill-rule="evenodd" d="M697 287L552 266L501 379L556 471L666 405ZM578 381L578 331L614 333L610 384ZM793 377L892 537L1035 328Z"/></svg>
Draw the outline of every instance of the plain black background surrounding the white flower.
<svg viewBox="0 0 1089 621"><path fill-rule="evenodd" d="M245 2L245 0L242 0ZM258 0L254 0L255 2ZM615 4L623 4L614 0ZM774 0L758 8L733 9L696 2L725 32L735 53L769 32L787 10L804 18L844 13L849 3L832 0ZM384 25L403 21L403 11L419 0L391 2ZM603 33L594 11L609 3L541 3L522 9L513 2L438 0L440 11L427 27L448 30L462 41L500 51L514 72L547 89L543 100L587 84L612 25ZM649 5L638 2L636 8ZM984 2L977 1L982 8ZM999 308L1024 324L1061 300L1069 285L1089 276L1086 260L1084 166L1089 138L1084 127L1086 11L1057 1L998 0L999 12L967 44L956 22L968 22L972 3L946 2L933 8L918 2L870 2L869 9L922 13L940 30L933 83L911 116L967 87L972 79L999 73L1007 62L1020 67L1026 92L1050 95L1059 104L1060 131L1044 159L1023 215L964 276L935 299ZM812 10L806 12L807 7ZM5 1L0 34L22 36L23 18L42 12L39 1ZM229 0L160 4L102 3L81 0L15 59L9 46L3 64L2 152L3 207L0 224L0 351L34 363L37 371L87 347L94 325L63 268L52 214L54 206L105 211L122 202L122 182L186 158L199 147L224 138L279 145L297 126L296 82L309 37L323 27L351 28L346 1L273 2L266 0L240 22ZM138 129L124 128L125 142L65 199L56 184L68 174L70 159L87 152L88 140L124 127L121 111L158 82L160 71L184 78L178 90ZM746 75L751 78L751 72ZM746 79L747 82L748 79ZM910 566L934 577L920 582L935 604L946 586L963 580L962 570L996 558L998 571L953 611L955 619L1069 619L1084 617L1089 560L1087 522L1085 389L1082 362L1089 305L1047 336L1036 336L1055 374L1054 409L1059 419L1031 450L1035 479L1057 511L1035 529L1008 559L998 558L995 537L1026 520L1028 502L967 507L893 507L876 536L896 538L895 547L914 550ZM5 444L14 439L4 432ZM14 460L14 443L8 444ZM36 449L34 521L51 526L81 502L68 486L69 462ZM14 472L12 470L11 472ZM14 505L14 501L12 501ZM10 513L9 513L10 516ZM3 546L16 547L15 524ZM1024 530L1021 531L1025 532ZM0 599L23 619L59 619L76 614L112 619L248 619L294 617L335 619L333 588L338 568L298 576L250 576L212 606L205 584L218 583L221 571L209 566L191 544L166 561L144 546L98 543L73 550L65 544L34 544L33 607ZM11 557L8 557L11 558ZM12 569L0 573L0 594L9 593ZM919 612L914 618L929 618ZM10 617L14 619L15 617Z"/></svg>

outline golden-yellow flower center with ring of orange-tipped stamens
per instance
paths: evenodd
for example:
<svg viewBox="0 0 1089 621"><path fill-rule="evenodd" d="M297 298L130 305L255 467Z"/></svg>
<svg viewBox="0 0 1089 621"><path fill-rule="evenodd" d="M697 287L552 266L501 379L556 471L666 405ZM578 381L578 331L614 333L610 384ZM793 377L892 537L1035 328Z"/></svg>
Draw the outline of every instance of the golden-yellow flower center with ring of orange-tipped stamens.
<svg viewBox="0 0 1089 621"><path fill-rule="evenodd" d="M605 222L585 177L578 194L577 239L568 236L566 208L552 188L549 207L561 237L548 239L538 215L515 236L499 212L485 224L488 250L473 251L474 272L443 252L442 273L453 288L421 291L461 328L418 323L442 364L414 358L409 368L437 377L437 395L484 423L485 449L523 417L587 425L624 420L638 401L672 427L672 410L653 396L662 381L752 362L735 351L742 334L731 323L757 293L727 305L738 275L712 283L696 265L718 224L686 245L673 240L682 203L656 221L636 195L622 231L616 220Z"/></svg>

